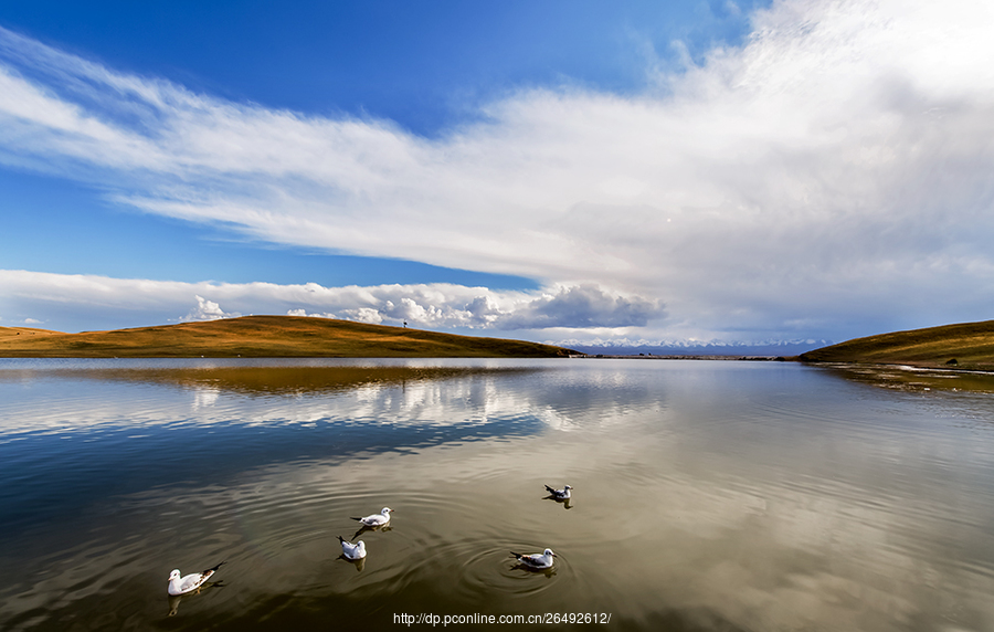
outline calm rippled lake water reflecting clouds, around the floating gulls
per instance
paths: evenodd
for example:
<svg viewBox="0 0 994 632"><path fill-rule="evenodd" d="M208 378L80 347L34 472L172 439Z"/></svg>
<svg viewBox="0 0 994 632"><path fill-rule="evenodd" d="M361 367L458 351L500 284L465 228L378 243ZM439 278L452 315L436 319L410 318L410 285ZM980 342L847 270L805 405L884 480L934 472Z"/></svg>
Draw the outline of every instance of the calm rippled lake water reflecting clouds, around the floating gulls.
<svg viewBox="0 0 994 632"><path fill-rule="evenodd" d="M0 629L994 630L991 380L0 360ZM339 559L383 506L364 562ZM508 555L544 547L550 572ZM167 598L221 560L221 586Z"/></svg>

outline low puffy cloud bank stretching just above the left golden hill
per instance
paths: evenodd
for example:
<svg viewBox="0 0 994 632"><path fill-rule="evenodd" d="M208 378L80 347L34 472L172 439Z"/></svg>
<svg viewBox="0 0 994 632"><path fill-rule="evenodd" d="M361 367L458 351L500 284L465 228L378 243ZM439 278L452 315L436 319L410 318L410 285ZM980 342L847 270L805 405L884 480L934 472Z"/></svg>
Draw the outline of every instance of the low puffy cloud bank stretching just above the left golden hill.
<svg viewBox="0 0 994 632"><path fill-rule="evenodd" d="M0 306L21 313L51 313L60 307L76 313L127 310L141 315L145 323L264 313L504 331L637 326L663 314L658 301L611 294L592 285L537 292L441 283L325 287L317 283L180 283L4 270L0 270Z"/></svg>

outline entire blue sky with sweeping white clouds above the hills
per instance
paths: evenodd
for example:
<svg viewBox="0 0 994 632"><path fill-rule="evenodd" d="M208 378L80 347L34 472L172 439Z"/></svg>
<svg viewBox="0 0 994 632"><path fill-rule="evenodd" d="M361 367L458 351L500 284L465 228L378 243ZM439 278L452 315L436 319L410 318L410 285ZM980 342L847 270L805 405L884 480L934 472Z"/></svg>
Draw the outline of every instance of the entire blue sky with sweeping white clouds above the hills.
<svg viewBox="0 0 994 632"><path fill-rule="evenodd" d="M991 319L991 32L961 0L7 0L0 326Z"/></svg>

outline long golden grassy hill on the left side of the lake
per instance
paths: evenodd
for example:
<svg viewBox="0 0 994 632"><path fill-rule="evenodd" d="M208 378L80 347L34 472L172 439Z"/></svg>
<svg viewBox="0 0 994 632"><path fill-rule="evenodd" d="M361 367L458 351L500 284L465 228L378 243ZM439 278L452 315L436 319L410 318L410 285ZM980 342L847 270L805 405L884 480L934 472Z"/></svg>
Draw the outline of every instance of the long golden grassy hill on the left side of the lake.
<svg viewBox="0 0 994 632"><path fill-rule="evenodd" d="M110 331L64 334L0 327L6 358L553 358L578 351L303 316L243 316Z"/></svg>

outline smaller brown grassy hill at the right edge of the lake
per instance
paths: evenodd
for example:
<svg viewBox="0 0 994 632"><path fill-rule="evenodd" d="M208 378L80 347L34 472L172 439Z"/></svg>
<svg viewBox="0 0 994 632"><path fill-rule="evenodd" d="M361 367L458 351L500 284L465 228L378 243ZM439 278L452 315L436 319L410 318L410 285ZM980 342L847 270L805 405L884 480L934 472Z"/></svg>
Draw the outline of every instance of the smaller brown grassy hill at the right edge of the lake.
<svg viewBox="0 0 994 632"><path fill-rule="evenodd" d="M800 356L806 362L860 362L994 369L994 320L856 338Z"/></svg>

